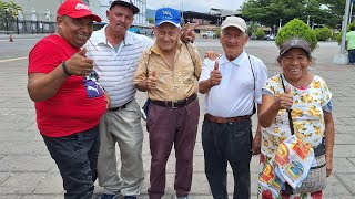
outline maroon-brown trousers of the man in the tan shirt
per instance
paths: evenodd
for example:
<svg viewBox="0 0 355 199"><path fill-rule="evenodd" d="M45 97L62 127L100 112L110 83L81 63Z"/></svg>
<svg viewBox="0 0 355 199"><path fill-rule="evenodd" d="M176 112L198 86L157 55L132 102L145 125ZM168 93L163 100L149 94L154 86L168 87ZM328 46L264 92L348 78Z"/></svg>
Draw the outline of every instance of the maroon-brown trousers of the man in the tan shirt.
<svg viewBox="0 0 355 199"><path fill-rule="evenodd" d="M150 199L160 199L165 189L165 167L172 146L175 148L178 197L187 196L192 184L193 149L196 140L200 106L197 98L184 107L150 105L148 128L151 149Z"/></svg>

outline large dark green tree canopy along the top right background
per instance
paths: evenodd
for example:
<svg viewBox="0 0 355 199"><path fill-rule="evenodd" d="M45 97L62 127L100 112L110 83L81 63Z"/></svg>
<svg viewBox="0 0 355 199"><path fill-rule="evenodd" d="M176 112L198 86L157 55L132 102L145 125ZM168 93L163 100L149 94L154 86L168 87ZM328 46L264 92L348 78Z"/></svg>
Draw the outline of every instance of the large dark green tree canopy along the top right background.
<svg viewBox="0 0 355 199"><path fill-rule="evenodd" d="M285 24L295 18L306 22L310 15L311 23L336 28L342 23L344 7L344 0L246 0L241 13L266 27L278 27L280 20Z"/></svg>

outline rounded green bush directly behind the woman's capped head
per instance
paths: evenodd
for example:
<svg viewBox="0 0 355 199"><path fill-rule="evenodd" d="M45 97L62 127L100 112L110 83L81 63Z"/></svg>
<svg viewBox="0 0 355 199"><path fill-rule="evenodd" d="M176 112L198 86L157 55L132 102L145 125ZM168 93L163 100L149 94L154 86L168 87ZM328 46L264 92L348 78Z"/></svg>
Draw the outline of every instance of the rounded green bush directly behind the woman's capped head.
<svg viewBox="0 0 355 199"><path fill-rule="evenodd" d="M280 46L285 41L293 36L298 36L306 40L311 44L312 51L317 48L317 39L311 28L300 19L291 20L281 29L276 35L276 45Z"/></svg>

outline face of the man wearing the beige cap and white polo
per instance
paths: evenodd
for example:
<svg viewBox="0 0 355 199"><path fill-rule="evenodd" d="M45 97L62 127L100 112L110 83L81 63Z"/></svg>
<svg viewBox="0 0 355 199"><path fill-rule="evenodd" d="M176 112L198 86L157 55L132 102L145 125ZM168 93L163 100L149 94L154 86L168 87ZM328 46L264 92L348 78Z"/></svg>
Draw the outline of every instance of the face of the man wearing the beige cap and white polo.
<svg viewBox="0 0 355 199"><path fill-rule="evenodd" d="M222 31L220 42L229 61L242 54L247 40L247 34L235 27L227 27Z"/></svg>

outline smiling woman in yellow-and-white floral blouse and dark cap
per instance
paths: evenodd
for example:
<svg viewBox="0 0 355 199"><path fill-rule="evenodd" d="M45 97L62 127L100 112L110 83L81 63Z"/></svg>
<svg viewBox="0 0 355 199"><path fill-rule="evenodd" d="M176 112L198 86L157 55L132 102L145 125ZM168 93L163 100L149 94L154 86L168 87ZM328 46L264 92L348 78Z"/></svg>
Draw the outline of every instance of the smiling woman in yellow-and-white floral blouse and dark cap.
<svg viewBox="0 0 355 199"><path fill-rule="evenodd" d="M263 87L260 114L260 124L263 127L261 171L276 153L277 146L291 136L286 109L292 109L296 136L313 148L325 145L326 176L332 172L334 146L332 93L321 76L308 71L313 62L311 51L310 43L300 38L292 38L280 46L277 61L283 74L271 77ZM322 191L286 196L282 190L280 196L275 196L260 186L257 196L262 199L320 199Z"/></svg>

